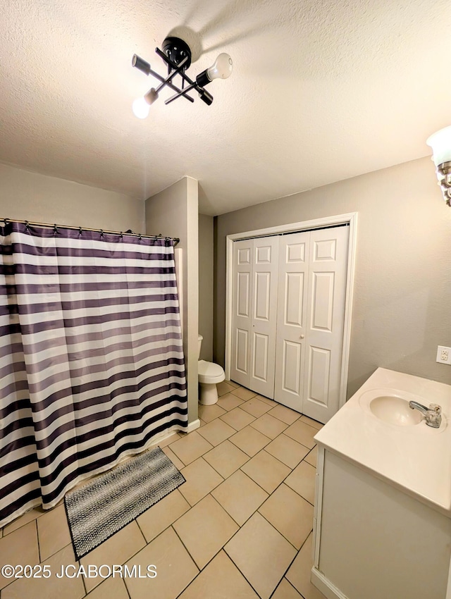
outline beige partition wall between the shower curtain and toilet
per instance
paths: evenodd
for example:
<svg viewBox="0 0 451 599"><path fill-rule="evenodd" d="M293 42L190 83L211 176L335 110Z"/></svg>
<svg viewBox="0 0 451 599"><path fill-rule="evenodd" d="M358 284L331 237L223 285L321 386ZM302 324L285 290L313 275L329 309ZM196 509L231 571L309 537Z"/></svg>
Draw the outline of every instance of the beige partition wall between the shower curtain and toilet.
<svg viewBox="0 0 451 599"><path fill-rule="evenodd" d="M188 390L188 421L197 420L197 330L199 303L197 180L185 177L146 200L146 233L179 237L183 250L183 350Z"/></svg>

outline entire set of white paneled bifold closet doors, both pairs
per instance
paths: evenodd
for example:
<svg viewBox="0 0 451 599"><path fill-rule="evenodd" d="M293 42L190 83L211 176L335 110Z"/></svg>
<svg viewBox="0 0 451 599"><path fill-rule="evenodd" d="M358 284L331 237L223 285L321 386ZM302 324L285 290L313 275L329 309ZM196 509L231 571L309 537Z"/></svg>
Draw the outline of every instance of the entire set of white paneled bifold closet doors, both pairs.
<svg viewBox="0 0 451 599"><path fill-rule="evenodd" d="M231 378L326 422L339 407L346 226L233 244Z"/></svg>

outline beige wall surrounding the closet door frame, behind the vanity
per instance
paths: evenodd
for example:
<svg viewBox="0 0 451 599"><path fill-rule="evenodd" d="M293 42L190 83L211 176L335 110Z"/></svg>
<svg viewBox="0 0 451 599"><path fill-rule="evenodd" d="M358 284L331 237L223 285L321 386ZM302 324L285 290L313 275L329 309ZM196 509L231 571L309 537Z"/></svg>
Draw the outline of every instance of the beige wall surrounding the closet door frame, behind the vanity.
<svg viewBox="0 0 451 599"><path fill-rule="evenodd" d="M216 217L214 361L224 364L226 235L357 211L348 396L378 367L451 383L451 209L428 158Z"/></svg>

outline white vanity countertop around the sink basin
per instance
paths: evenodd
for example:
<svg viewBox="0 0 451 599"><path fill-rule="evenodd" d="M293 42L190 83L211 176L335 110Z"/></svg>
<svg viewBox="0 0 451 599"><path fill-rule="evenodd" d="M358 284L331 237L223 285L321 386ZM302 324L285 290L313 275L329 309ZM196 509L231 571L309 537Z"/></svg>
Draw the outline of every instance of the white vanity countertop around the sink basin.
<svg viewBox="0 0 451 599"><path fill-rule="evenodd" d="M442 426L397 426L376 418L361 396L399 391L442 407ZM368 394L366 394L366 397ZM414 397L409 397L414 399ZM317 443L451 517L451 385L378 368L316 434Z"/></svg>

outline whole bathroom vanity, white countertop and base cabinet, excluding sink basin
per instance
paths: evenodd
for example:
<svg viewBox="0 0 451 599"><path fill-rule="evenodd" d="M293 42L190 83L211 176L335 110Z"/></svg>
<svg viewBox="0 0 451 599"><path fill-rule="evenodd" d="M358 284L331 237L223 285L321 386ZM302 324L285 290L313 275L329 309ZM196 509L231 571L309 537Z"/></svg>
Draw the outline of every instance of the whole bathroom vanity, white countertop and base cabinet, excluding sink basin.
<svg viewBox="0 0 451 599"><path fill-rule="evenodd" d="M451 599L451 387L397 375L378 369L316 435L311 581L328 599ZM438 400L443 427L378 421L371 389Z"/></svg>

